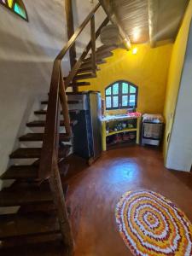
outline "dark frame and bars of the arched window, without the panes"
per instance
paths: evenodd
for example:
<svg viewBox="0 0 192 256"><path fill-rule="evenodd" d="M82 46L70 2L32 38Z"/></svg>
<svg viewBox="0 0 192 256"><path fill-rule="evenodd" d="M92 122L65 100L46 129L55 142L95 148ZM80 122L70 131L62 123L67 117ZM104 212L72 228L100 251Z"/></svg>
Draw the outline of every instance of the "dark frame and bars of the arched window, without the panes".
<svg viewBox="0 0 192 256"><path fill-rule="evenodd" d="M123 84L128 84L128 93L123 93ZM113 94L113 84L119 84L119 94L117 95L114 95ZM105 102L106 101L106 98L107 97L111 97L111 108L107 108L107 103L106 103L106 110L116 110L116 109L125 109L125 108L137 108L137 100L138 100L138 86L136 84L133 84L129 81L125 81L125 80L118 80L116 82L113 82L113 84L109 84L108 87L105 88ZM136 92L135 93L131 93L130 92L130 86L134 87L136 89ZM106 95L106 91L108 90L108 88L111 87L111 95ZM134 95L136 96L136 105L133 107L133 106L130 106L130 96L131 95ZM118 107L114 107L113 108L113 96L118 96L118 99L119 99L119 106ZM128 104L127 106L122 106L122 96L128 96Z"/></svg>

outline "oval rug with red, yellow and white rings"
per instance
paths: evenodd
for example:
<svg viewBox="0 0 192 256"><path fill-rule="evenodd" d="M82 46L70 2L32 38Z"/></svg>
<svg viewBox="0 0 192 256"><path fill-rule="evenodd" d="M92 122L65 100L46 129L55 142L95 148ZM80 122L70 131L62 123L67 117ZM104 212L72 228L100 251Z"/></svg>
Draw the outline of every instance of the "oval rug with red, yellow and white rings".
<svg viewBox="0 0 192 256"><path fill-rule="evenodd" d="M192 255L192 224L164 196L148 190L127 192L115 213L133 255Z"/></svg>

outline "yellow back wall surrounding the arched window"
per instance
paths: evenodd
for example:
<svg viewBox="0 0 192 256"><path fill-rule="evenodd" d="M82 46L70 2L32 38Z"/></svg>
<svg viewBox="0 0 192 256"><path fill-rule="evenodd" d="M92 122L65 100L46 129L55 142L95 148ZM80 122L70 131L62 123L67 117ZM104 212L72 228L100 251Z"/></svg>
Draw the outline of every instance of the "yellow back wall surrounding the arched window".
<svg viewBox="0 0 192 256"><path fill-rule="evenodd" d="M136 84L138 90L137 110L142 113L163 113L167 73L172 44L151 49L148 44L137 45L137 55L125 49L115 49L107 64L100 66L96 79L87 80L91 86L80 90L99 90L104 98L105 88L124 79Z"/></svg>

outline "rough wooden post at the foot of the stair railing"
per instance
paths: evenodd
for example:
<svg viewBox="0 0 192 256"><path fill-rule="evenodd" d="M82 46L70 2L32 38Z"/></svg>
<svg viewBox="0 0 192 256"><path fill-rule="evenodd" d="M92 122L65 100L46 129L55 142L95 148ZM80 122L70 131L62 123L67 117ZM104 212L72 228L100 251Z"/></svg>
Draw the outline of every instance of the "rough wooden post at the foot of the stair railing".
<svg viewBox="0 0 192 256"><path fill-rule="evenodd" d="M73 256L74 242L71 224L69 222L67 214L67 206L65 197L63 195L63 189L61 184L60 172L57 164L57 157L55 154L53 169L49 177L49 186L53 194L53 200L57 209L57 215L59 218L59 224L61 229L61 235L64 245L67 247L67 256Z"/></svg>

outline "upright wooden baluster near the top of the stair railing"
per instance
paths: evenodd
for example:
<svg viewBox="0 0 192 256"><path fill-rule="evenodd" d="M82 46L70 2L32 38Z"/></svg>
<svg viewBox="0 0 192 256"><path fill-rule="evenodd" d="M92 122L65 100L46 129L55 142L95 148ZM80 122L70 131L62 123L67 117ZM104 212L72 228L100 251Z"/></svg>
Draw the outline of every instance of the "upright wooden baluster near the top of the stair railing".
<svg viewBox="0 0 192 256"><path fill-rule="evenodd" d="M95 15L92 16L90 20L90 36L91 36L91 62L92 62L92 72L96 74L96 24Z"/></svg>

